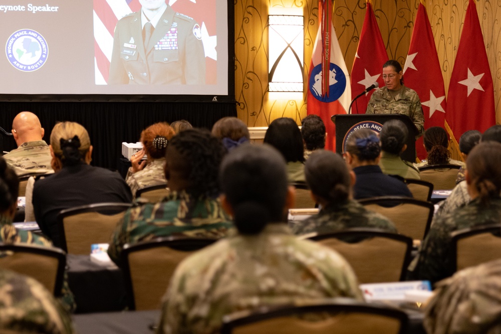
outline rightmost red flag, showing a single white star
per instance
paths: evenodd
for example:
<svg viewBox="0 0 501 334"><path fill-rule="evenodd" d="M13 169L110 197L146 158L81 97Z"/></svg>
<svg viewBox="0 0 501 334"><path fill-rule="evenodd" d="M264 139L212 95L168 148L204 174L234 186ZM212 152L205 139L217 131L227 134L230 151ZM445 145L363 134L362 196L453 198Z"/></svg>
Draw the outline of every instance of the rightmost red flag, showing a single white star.
<svg viewBox="0 0 501 334"><path fill-rule="evenodd" d="M469 0L447 94L445 120L456 140L495 124L494 88L474 0Z"/></svg>

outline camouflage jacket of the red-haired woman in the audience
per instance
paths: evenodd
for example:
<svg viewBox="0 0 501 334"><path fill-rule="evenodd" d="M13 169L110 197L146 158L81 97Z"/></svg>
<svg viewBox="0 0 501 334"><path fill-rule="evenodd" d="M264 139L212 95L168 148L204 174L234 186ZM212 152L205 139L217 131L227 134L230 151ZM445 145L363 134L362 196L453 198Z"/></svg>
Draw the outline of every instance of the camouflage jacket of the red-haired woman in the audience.
<svg viewBox="0 0 501 334"><path fill-rule="evenodd" d="M141 188L167 183L163 171L164 165L165 158L161 158L149 161L143 170L135 173L132 172L132 167L130 167L125 182L129 185L132 196L136 197L136 191Z"/></svg>

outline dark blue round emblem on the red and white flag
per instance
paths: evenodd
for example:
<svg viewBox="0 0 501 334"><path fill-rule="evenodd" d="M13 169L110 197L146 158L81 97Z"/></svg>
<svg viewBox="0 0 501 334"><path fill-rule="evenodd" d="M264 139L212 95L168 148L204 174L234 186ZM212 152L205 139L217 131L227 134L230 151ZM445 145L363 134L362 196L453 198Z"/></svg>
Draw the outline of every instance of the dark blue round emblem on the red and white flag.
<svg viewBox="0 0 501 334"><path fill-rule="evenodd" d="M331 63L329 71L329 96L322 97L322 64L315 66L310 76L310 92L321 102L334 102L346 89L346 75L336 64Z"/></svg>

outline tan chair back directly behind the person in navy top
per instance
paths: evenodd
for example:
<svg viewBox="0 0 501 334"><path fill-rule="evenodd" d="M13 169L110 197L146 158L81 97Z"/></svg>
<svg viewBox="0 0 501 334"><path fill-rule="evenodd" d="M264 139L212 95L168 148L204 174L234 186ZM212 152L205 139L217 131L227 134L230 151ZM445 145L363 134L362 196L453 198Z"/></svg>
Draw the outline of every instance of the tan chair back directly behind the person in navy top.
<svg viewBox="0 0 501 334"><path fill-rule="evenodd" d="M359 203L366 209L389 218L399 233L414 240L424 239L430 229L435 210L430 202L399 196L365 198L360 199Z"/></svg>

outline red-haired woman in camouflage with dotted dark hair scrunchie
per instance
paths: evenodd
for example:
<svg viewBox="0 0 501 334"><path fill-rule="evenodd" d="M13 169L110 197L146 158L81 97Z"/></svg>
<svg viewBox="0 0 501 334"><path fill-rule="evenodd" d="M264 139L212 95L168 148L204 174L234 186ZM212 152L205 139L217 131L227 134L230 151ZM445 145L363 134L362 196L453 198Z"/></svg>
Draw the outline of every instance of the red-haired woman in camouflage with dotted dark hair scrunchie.
<svg viewBox="0 0 501 334"><path fill-rule="evenodd" d="M165 148L174 135L174 130L167 123L155 123L141 132L143 149L131 156L132 167L129 167L125 177L133 197L138 189L167 183L163 175ZM145 155L146 160L143 160Z"/></svg>

